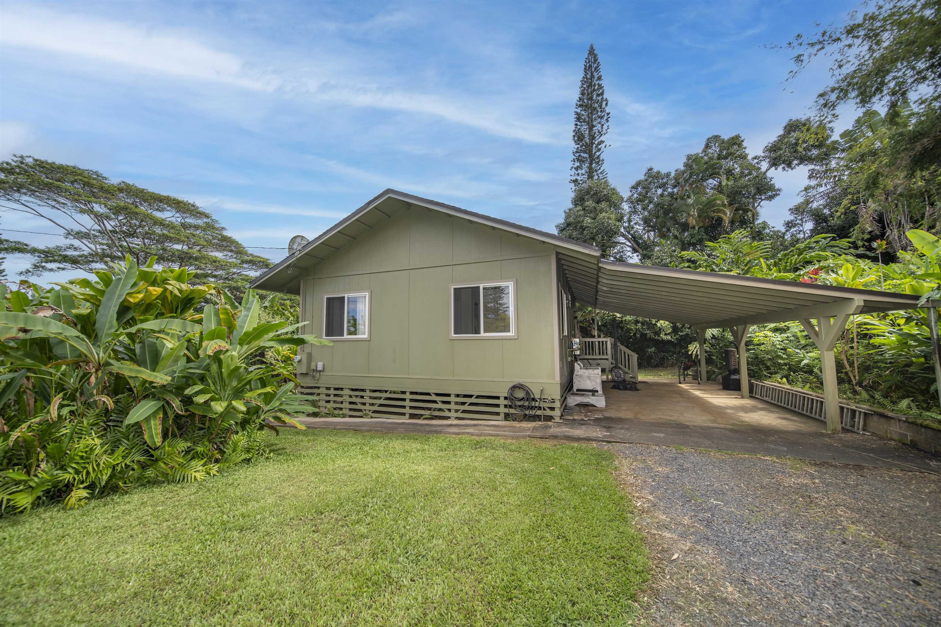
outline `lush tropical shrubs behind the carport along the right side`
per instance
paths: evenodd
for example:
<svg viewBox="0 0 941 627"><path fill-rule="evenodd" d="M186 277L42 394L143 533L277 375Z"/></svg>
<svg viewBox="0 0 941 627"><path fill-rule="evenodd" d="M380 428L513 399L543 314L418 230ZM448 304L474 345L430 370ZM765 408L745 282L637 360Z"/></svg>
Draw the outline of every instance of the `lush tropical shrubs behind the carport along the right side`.
<svg viewBox="0 0 941 627"><path fill-rule="evenodd" d="M857 257L860 251L849 240L831 235L818 235L764 259L769 243L750 242L744 231L708 243L703 253L681 256L687 267L698 270L897 291L921 296L923 302L941 298L941 242L917 229L907 236L915 250L902 250L895 263L885 265ZM708 339L713 337L718 338ZM710 341L708 351L718 357L728 345L728 340ZM820 353L797 322L756 325L748 350L752 377L822 391ZM841 398L941 427L926 309L854 316L836 351Z"/></svg>

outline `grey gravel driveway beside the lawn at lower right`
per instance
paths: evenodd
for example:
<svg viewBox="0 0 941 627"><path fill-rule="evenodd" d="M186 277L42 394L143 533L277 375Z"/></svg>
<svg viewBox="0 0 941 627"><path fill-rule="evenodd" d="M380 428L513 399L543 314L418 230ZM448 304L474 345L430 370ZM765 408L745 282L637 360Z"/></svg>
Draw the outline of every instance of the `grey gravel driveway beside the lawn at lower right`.
<svg viewBox="0 0 941 627"><path fill-rule="evenodd" d="M654 624L941 624L941 477L604 447L650 539Z"/></svg>

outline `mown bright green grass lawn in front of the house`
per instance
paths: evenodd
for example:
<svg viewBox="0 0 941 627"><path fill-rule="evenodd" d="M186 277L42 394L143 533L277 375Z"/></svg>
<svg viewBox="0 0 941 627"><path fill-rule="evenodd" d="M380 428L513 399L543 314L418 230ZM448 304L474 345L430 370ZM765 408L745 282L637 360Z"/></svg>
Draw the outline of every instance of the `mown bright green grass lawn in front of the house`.
<svg viewBox="0 0 941 627"><path fill-rule="evenodd" d="M3 625L630 623L611 453L281 431L272 459L0 520Z"/></svg>

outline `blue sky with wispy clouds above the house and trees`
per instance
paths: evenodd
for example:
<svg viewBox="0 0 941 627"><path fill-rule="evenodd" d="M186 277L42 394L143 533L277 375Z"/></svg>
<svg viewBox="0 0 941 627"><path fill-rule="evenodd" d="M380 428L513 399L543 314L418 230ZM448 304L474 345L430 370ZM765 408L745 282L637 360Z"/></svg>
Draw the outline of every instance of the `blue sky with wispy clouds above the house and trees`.
<svg viewBox="0 0 941 627"><path fill-rule="evenodd" d="M0 2L0 158L183 196L253 246L312 237L387 187L554 231L589 43L626 193L710 134L757 153L805 115L825 66L785 84L789 55L763 45L855 4ZM780 225L804 173L775 181L763 217Z"/></svg>

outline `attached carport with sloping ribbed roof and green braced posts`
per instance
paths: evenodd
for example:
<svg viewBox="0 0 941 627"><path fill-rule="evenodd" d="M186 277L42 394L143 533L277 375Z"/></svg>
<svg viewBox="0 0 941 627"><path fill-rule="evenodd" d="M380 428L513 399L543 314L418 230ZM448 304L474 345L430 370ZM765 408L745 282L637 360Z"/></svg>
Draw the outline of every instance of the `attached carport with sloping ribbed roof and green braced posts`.
<svg viewBox="0 0 941 627"><path fill-rule="evenodd" d="M853 315L918 307L918 297L878 290L856 290L737 274L661 268L601 259L591 268L582 259L562 256L578 302L604 311L689 324L699 342L699 372L706 371L706 331L727 328L735 340L742 376L742 398L749 398L745 339L753 324L800 321L821 352L827 431L840 431L837 396L837 339ZM936 306L936 303L932 304ZM935 374L938 367L936 310L933 323ZM939 384L941 387L941 384Z"/></svg>

